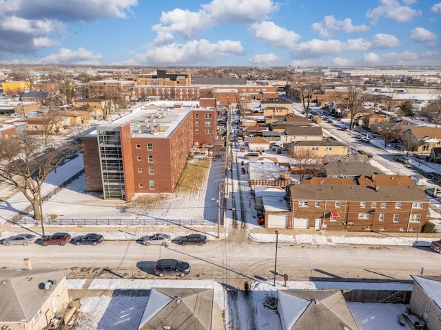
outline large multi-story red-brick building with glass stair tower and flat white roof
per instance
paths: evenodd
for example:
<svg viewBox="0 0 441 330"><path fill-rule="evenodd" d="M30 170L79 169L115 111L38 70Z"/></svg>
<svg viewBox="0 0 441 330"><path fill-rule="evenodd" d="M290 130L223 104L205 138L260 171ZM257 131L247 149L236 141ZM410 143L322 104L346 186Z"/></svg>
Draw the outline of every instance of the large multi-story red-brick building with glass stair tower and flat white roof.
<svg viewBox="0 0 441 330"><path fill-rule="evenodd" d="M83 137L88 191L127 201L136 193L172 192L195 142L216 139L216 100L198 103L145 104Z"/></svg>

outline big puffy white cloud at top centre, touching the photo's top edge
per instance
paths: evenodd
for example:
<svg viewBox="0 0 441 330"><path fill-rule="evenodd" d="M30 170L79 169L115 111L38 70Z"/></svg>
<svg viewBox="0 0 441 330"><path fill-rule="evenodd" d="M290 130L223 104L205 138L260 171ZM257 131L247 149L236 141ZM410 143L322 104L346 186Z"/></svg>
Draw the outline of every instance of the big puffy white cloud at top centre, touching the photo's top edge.
<svg viewBox="0 0 441 330"><path fill-rule="evenodd" d="M199 31L223 23L249 23L267 18L278 10L272 0L213 0L202 5L202 10L192 12L176 8L162 12L161 23L153 26L158 34L177 34L186 40L199 35Z"/></svg>

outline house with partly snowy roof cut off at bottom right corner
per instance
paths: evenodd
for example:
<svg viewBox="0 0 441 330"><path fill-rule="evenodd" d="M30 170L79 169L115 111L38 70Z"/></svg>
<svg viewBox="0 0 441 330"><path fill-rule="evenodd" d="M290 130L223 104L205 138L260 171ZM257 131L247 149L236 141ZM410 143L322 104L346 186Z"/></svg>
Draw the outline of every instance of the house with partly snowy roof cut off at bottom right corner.
<svg viewBox="0 0 441 330"><path fill-rule="evenodd" d="M441 276L412 275L412 278L409 314L424 320L429 330L441 329Z"/></svg>

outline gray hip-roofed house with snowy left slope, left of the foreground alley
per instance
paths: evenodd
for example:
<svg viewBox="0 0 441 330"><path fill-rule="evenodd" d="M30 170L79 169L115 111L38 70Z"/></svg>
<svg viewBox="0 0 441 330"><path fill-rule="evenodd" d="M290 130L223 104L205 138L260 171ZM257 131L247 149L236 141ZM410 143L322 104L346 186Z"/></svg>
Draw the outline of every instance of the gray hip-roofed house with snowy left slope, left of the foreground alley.
<svg viewBox="0 0 441 330"><path fill-rule="evenodd" d="M213 322L213 305L213 289L156 287L150 292L138 329L223 329Z"/></svg>

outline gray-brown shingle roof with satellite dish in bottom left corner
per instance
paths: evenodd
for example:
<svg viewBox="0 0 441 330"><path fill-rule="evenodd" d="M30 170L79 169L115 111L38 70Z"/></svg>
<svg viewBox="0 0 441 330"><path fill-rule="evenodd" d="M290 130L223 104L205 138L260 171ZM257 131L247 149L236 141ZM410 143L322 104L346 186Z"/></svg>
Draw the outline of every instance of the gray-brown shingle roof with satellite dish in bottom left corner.
<svg viewBox="0 0 441 330"><path fill-rule="evenodd" d="M0 270L0 322L30 320L52 294L48 281L57 286L64 270Z"/></svg>

